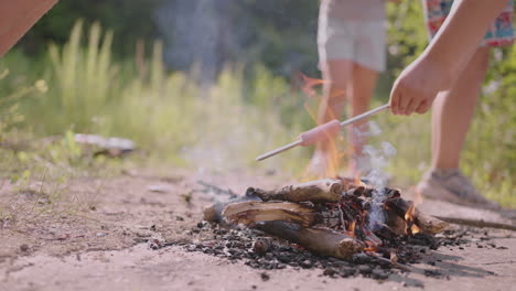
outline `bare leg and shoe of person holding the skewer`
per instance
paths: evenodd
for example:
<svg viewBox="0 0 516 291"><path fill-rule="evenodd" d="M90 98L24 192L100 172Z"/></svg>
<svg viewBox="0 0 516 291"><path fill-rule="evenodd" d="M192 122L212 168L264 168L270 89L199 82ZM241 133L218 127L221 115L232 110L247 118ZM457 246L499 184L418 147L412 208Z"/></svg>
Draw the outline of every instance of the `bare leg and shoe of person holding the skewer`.
<svg viewBox="0 0 516 291"><path fill-rule="evenodd" d="M433 101L432 169L417 186L423 196L482 208L499 208L497 203L482 196L459 170L488 57L488 47L477 48L452 88L440 93Z"/></svg>

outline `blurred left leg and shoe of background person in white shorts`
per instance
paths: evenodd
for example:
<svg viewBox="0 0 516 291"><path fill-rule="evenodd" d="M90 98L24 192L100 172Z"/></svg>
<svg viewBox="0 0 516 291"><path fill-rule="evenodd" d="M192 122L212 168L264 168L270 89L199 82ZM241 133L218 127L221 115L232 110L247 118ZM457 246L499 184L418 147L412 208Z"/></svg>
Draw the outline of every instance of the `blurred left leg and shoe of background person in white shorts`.
<svg viewBox="0 0 516 291"><path fill-rule="evenodd" d="M318 123L338 119L344 109L346 96L351 94L353 62L333 60L321 64L323 98L319 106ZM318 175L335 175L338 157L335 140L319 142L313 154L310 172Z"/></svg>

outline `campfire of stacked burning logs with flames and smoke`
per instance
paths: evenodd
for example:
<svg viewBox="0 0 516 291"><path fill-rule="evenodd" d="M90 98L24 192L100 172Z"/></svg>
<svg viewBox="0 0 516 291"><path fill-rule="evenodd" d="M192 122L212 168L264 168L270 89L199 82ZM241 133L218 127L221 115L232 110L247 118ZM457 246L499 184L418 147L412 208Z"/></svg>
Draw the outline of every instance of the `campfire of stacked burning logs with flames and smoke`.
<svg viewBox="0 0 516 291"><path fill-rule="evenodd" d="M398 190L351 179L271 191L249 187L238 201L206 208L204 219L259 229L318 256L351 259L364 252L398 267L398 244L410 237L432 237L448 226L418 211ZM256 244L260 252L264 242Z"/></svg>

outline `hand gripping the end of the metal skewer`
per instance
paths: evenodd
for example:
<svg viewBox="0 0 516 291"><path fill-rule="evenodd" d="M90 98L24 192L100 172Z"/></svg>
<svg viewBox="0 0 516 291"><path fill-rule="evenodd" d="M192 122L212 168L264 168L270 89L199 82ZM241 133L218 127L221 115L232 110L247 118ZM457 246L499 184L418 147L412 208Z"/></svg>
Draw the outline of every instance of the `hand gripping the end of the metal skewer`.
<svg viewBox="0 0 516 291"><path fill-rule="evenodd" d="M424 114L448 82L445 69L440 69L437 63L426 57L419 57L396 79L390 91L390 110L395 115Z"/></svg>

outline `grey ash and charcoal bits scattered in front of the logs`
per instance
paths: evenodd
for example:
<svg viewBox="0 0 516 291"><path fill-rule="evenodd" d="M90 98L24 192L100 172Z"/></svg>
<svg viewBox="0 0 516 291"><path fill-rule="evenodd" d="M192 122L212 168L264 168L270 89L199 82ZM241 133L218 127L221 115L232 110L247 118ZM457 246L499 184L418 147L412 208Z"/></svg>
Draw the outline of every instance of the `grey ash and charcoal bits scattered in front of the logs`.
<svg viewBox="0 0 516 291"><path fill-rule="evenodd" d="M347 278L363 276L385 280L396 269L389 261L396 254L399 263L415 263L421 260L421 249L439 246L431 236L417 234L410 238L388 240L375 255L359 252L351 260L321 257L290 244L287 240L269 237L266 233L251 228L223 228L219 225L198 224L196 235L209 237L197 244L179 244L187 251L201 251L226 258L232 261L244 260L245 265L259 270L275 270L291 267L294 269L320 269L323 276ZM198 231L197 231L198 230ZM192 231L193 233L193 231ZM415 245L415 242L419 245Z"/></svg>

